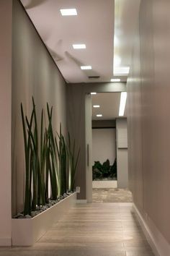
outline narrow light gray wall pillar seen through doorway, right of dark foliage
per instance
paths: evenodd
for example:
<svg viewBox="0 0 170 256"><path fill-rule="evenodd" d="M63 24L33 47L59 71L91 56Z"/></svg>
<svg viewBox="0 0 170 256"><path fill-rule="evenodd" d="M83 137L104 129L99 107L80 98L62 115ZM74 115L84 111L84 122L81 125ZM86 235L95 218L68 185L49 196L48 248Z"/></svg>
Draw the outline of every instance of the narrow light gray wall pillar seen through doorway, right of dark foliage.
<svg viewBox="0 0 170 256"><path fill-rule="evenodd" d="M120 137L121 131L125 131L127 134L127 119L116 119L116 136L117 136L117 187L128 188L128 148L127 137ZM118 138L119 137L119 138ZM123 148L120 148L119 141L124 142ZM125 148L124 148L125 147Z"/></svg>

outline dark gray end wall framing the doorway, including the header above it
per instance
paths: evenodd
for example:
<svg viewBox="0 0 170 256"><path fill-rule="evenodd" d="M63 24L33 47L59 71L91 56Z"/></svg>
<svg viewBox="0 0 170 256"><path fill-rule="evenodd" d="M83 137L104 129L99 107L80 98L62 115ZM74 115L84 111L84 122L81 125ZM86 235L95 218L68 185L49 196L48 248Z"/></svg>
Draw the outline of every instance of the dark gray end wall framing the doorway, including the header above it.
<svg viewBox="0 0 170 256"><path fill-rule="evenodd" d="M67 116L68 130L80 147L79 165L76 173L76 186L81 187L78 199L86 199L86 139L85 139L85 95L90 92L112 93L126 91L124 82L68 84Z"/></svg>

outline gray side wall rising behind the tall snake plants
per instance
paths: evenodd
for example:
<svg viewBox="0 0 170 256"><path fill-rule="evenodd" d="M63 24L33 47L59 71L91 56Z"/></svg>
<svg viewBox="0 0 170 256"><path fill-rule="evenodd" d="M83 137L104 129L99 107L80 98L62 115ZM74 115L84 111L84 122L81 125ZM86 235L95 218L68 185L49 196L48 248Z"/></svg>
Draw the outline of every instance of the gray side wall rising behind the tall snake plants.
<svg viewBox="0 0 170 256"><path fill-rule="evenodd" d="M35 98L37 122L46 103L53 106L53 128L66 132L66 83L19 1L12 20L12 214L23 208L24 142L20 103L25 114Z"/></svg>

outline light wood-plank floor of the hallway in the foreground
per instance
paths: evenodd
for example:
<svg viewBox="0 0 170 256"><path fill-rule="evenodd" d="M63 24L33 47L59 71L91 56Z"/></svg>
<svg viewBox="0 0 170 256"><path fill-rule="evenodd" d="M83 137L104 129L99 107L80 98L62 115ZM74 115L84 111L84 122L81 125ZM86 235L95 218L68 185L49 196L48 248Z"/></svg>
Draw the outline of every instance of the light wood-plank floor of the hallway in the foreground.
<svg viewBox="0 0 170 256"><path fill-rule="evenodd" d="M151 256L131 203L76 205L34 247L0 248L0 255Z"/></svg>

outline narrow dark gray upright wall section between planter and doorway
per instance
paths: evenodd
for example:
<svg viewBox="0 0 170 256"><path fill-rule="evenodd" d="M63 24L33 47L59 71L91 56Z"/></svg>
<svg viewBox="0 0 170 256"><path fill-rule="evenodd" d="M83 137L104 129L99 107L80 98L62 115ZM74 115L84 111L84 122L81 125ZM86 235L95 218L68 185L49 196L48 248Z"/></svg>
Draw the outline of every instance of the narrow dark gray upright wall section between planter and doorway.
<svg viewBox="0 0 170 256"><path fill-rule="evenodd" d="M86 140L85 140L85 94L83 86L67 85L68 131L76 140L76 151L80 148L76 171L76 186L81 187L78 198L86 199Z"/></svg>

